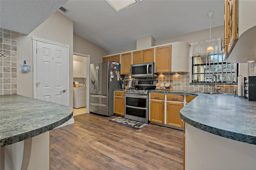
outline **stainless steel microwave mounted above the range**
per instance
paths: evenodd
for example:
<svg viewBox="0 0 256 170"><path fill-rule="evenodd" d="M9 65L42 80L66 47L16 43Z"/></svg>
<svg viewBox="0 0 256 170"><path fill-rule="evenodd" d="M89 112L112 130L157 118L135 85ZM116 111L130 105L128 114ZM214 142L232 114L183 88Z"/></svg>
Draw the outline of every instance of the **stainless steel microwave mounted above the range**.
<svg viewBox="0 0 256 170"><path fill-rule="evenodd" d="M131 65L131 76L134 78L153 78L158 77L158 74L154 73L154 62L151 63L139 63Z"/></svg>

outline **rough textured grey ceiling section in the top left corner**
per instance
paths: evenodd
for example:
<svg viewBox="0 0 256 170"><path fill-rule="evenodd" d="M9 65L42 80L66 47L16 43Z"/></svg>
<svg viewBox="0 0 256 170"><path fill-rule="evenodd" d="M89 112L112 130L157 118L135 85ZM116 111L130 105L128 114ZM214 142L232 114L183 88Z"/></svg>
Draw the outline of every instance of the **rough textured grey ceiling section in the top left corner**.
<svg viewBox="0 0 256 170"><path fill-rule="evenodd" d="M0 28L30 34L68 0L0 0Z"/></svg>

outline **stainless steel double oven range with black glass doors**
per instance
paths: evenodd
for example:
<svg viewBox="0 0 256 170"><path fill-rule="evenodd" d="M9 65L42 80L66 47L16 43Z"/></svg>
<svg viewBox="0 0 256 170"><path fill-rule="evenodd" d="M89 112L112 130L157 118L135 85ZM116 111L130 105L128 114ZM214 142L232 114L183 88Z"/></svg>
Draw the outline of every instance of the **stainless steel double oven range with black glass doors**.
<svg viewBox="0 0 256 170"><path fill-rule="evenodd" d="M134 89L125 90L124 117L134 121L148 123L149 120L149 93L156 89L157 80L136 80Z"/></svg>

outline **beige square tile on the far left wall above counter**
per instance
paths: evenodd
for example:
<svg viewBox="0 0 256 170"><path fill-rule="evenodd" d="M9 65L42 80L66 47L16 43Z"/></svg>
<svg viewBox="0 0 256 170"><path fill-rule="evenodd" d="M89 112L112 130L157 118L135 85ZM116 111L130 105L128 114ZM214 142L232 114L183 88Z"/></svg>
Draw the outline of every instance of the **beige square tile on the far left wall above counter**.
<svg viewBox="0 0 256 170"><path fill-rule="evenodd" d="M0 95L17 94L17 32L0 28Z"/></svg>

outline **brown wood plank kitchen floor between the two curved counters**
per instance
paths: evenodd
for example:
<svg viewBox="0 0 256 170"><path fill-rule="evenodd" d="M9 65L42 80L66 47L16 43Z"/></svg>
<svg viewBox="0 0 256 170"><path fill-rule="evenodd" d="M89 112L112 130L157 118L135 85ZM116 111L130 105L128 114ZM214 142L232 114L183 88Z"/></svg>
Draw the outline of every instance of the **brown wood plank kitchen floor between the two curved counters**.
<svg viewBox="0 0 256 170"><path fill-rule="evenodd" d="M183 131L148 124L134 130L86 113L50 132L51 170L182 170Z"/></svg>

